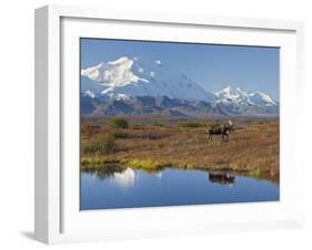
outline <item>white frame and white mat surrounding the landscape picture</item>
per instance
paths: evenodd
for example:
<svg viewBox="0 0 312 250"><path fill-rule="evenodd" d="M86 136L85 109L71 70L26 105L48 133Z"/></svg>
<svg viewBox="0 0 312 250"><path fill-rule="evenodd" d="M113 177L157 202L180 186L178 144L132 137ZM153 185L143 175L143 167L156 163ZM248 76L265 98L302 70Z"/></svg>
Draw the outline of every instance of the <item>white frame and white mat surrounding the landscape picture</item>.
<svg viewBox="0 0 312 250"><path fill-rule="evenodd" d="M112 32L118 23L123 34ZM67 87L79 87L77 38L102 37L91 27L103 25L111 38L168 40L170 31L180 30L174 41L202 41L225 44L279 45L281 56L281 200L273 204L181 206L170 208L118 209L80 212L77 137L68 145L67 136L77 133L77 98ZM128 25L158 32L129 34ZM197 29L219 32L211 38ZM88 30L88 31L87 31ZM98 29L99 30L99 29ZM100 29L103 30L103 29ZM139 30L138 30L139 31ZM163 31L163 32L161 32ZM193 32L193 33L192 33ZM233 32L233 33L231 33ZM265 33L266 35L261 35ZM182 34L183 33L183 34ZM238 35L240 34L240 35ZM188 37L189 35L189 37ZM192 37L192 38L191 38ZM209 40L209 41L208 41ZM276 229L303 223L303 166L295 152L298 116L303 93L303 24L295 21L203 17L190 14L112 11L92 8L48 6L36 10L36 239L46 243L159 237L210 231ZM76 51L76 52L74 52ZM68 56L70 54L71 56ZM67 66L69 65L69 66ZM67 69L66 73L63 69ZM71 72L69 73L68 72ZM79 71L79 70L78 70ZM71 82L72 85L62 84ZM78 88L76 88L78 90ZM290 102L292 100L292 102ZM73 107L70 110L69 107ZM71 112L72 111L72 112ZM66 116L66 117L64 117ZM295 135L295 133L292 133ZM73 143L74 144L74 143ZM64 155L64 150L67 154ZM73 164L71 164L73 163ZM76 164L74 164L76 163ZM64 166L66 164L66 166ZM290 169L290 166L295 166ZM77 167L77 168L74 168Z"/></svg>

